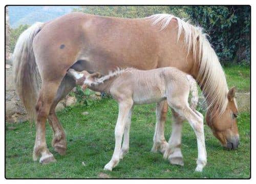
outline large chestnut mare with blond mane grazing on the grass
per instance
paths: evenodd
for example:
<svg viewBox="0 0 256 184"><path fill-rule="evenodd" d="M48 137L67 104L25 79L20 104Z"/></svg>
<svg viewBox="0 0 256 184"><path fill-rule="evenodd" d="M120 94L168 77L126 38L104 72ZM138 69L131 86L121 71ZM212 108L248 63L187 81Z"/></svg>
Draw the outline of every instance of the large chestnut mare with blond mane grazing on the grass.
<svg viewBox="0 0 256 184"><path fill-rule="evenodd" d="M206 122L224 147L239 143L237 105L234 89L228 90L225 74L206 35L198 27L169 14L146 18L116 18L70 13L46 23L37 23L22 33L13 53L14 81L19 98L36 121L33 159L54 162L46 144L46 120L54 131L52 146L65 154L66 135L55 107L74 87L69 68L89 73L118 67L150 70L173 66L193 76L207 102ZM38 80L41 78L41 83ZM157 105L154 144L164 152L164 122L167 102ZM169 143L182 162L181 129L183 118L173 109L173 129Z"/></svg>

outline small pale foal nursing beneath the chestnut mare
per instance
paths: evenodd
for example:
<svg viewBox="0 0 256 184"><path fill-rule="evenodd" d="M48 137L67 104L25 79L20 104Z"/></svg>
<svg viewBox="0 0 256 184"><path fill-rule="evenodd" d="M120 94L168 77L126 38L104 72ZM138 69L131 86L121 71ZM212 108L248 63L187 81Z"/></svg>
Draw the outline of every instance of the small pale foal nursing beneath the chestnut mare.
<svg viewBox="0 0 256 184"><path fill-rule="evenodd" d="M104 91L113 96L119 104L119 114L115 127L115 150L105 170L112 170L129 150L129 131L133 105L149 104L167 100L168 105L181 117L185 118L197 136L198 159L196 171L202 171L206 165L203 116L196 111L198 102L197 85L194 78L174 67L162 67L141 71L135 68L117 70L103 76L99 73L89 74L87 71L76 72L73 69L68 75L82 87L89 86L95 91ZM188 104L189 91L192 91L191 107ZM123 136L123 144L122 144ZM122 144L122 147L121 147ZM153 148L156 145L153 146ZM164 157L174 152L169 142Z"/></svg>

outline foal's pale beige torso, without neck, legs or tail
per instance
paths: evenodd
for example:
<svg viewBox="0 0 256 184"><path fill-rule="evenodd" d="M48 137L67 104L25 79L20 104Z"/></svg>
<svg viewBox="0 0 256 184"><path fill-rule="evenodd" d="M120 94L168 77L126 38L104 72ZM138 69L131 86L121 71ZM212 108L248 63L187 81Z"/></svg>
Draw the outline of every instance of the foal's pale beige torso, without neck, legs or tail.
<svg viewBox="0 0 256 184"><path fill-rule="evenodd" d="M179 93L182 90L189 93L186 75L175 67L127 70L112 83L111 94L115 98L115 91L118 91L118 94L130 96L134 104L160 102L166 99L167 93Z"/></svg>

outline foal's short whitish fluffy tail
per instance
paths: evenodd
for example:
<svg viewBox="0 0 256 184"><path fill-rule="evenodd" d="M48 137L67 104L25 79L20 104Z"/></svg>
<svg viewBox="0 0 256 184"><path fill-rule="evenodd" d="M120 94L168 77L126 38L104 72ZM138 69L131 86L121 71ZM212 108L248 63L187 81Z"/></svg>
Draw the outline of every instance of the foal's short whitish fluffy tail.
<svg viewBox="0 0 256 184"><path fill-rule="evenodd" d="M187 75L187 79L188 79L188 82L189 82L190 91L191 91L191 95L192 95L192 97L190 99L190 107L191 107L191 109L193 109L195 111L196 108L197 108L197 103L198 103L197 82L190 75Z"/></svg>

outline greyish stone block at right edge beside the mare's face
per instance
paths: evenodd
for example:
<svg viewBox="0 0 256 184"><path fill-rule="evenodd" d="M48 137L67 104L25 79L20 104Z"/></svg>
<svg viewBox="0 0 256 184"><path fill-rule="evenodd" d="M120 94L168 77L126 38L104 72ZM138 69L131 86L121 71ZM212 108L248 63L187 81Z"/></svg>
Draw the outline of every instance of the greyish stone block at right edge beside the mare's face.
<svg viewBox="0 0 256 184"><path fill-rule="evenodd" d="M236 93L238 111L250 111L250 93Z"/></svg>

